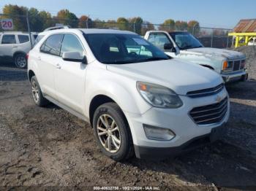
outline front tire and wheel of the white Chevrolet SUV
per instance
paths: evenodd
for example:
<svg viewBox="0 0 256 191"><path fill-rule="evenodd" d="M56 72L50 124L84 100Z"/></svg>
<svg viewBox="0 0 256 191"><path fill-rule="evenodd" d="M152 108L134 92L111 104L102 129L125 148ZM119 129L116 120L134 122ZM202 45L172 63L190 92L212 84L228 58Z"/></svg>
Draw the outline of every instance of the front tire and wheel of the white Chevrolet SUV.
<svg viewBox="0 0 256 191"><path fill-rule="evenodd" d="M98 129L98 127L105 127L102 120L105 120L105 124L106 122L108 122L108 125L110 125L110 123L112 124L111 127L109 126L108 130L102 131ZM116 125L113 125L113 120ZM129 157L132 157L134 153L132 134L130 133L128 122L117 104L107 103L99 106L96 109L96 112L94 112L93 128L94 136L97 139L97 144L105 155L116 161L123 161L127 160ZM109 130L111 131L116 128L118 128L118 130L113 131L110 134L106 133L109 132ZM99 136L99 133L105 133L105 135ZM113 138L113 136L116 138ZM109 139L110 147L108 147ZM120 141L120 144L118 144L117 140ZM111 149L113 150L111 151Z"/></svg>

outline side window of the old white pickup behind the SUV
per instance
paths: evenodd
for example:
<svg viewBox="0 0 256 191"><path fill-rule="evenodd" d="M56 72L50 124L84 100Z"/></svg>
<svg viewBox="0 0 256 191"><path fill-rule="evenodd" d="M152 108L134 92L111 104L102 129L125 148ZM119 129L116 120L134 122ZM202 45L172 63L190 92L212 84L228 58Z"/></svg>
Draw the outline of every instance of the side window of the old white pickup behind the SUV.
<svg viewBox="0 0 256 191"><path fill-rule="evenodd" d="M172 44L168 36L166 34L157 33L157 34L149 34L148 41L154 44L156 47L159 47L161 50L165 50L165 44Z"/></svg>

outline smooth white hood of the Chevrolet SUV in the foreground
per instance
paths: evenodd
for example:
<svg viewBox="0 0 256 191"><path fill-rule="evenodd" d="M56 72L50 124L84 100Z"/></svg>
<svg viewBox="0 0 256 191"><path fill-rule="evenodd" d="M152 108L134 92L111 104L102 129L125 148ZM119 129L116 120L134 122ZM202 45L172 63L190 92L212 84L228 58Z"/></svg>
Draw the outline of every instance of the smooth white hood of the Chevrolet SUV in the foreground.
<svg viewBox="0 0 256 191"><path fill-rule="evenodd" d="M109 64L108 71L136 81L151 82L169 87L179 95L193 90L216 87L223 82L215 71L194 63L171 59L129 64Z"/></svg>

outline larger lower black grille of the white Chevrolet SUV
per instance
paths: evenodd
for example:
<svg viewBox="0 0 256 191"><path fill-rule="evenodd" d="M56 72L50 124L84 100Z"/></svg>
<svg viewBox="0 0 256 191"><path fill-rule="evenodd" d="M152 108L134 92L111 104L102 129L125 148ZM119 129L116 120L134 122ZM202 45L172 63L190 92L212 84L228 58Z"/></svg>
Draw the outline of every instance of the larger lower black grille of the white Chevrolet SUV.
<svg viewBox="0 0 256 191"><path fill-rule="evenodd" d="M189 113L198 125L221 122L227 113L227 98L217 104L195 107Z"/></svg>

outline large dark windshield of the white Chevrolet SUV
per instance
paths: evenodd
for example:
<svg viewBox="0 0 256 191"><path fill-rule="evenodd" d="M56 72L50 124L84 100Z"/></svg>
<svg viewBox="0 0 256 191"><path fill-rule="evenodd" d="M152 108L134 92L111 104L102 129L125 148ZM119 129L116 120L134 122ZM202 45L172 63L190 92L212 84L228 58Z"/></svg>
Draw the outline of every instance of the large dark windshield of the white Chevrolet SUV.
<svg viewBox="0 0 256 191"><path fill-rule="evenodd" d="M135 34L84 34L101 63L138 63L170 59L162 50Z"/></svg>

